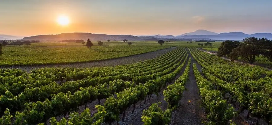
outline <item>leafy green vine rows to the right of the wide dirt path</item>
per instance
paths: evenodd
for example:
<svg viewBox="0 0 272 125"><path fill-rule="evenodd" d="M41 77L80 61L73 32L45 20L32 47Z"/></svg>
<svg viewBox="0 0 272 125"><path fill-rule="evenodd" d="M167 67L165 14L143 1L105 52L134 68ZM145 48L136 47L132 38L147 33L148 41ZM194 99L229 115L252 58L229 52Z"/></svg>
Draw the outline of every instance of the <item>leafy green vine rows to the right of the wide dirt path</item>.
<svg viewBox="0 0 272 125"><path fill-rule="evenodd" d="M248 43L248 46L253 45ZM221 124L227 123L236 114L228 103L234 105L236 102L240 105L238 112L248 110L248 115L257 117L257 124L261 118L271 123L271 71L258 66L251 67L225 61L214 55L198 52L197 49L190 51L202 66L202 74L206 78L202 77L194 66L200 95L205 98L203 105L206 107L209 123L217 124L219 123L217 120L220 120ZM230 98L229 102L222 99L226 93L229 94L227 95L227 98ZM231 121L229 123L235 124Z"/></svg>

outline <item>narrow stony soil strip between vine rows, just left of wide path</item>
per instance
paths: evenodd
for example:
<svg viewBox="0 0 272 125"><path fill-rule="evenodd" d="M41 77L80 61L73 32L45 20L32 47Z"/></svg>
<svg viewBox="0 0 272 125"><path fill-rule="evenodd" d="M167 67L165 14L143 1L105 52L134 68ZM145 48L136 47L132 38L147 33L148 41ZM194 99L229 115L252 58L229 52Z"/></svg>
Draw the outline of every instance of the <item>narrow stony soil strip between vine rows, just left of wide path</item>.
<svg viewBox="0 0 272 125"><path fill-rule="evenodd" d="M174 81L176 79L178 79L184 72L186 65L188 63L188 59L186 60L185 65L183 66L183 69L180 71L180 73L175 77L175 79L172 81L172 83L174 83ZM170 83L170 84L172 84ZM164 88L163 90L161 90L158 95L152 94L151 98L146 102L146 104L144 104L144 100L141 103L141 107L140 107L140 102L138 102L135 106L135 111L134 114L131 114L132 110L133 110L133 106L127 108L126 110L126 114L125 114L125 121L124 122L119 122L122 125L141 125L144 124L141 120L141 116L142 113L144 111L144 109L148 109L149 106L151 106L151 104L156 103L156 102L161 102L161 108L162 110L166 110L167 109L167 102L164 100L164 95L163 95L163 91L166 88ZM122 118L123 114L120 114L120 119Z"/></svg>

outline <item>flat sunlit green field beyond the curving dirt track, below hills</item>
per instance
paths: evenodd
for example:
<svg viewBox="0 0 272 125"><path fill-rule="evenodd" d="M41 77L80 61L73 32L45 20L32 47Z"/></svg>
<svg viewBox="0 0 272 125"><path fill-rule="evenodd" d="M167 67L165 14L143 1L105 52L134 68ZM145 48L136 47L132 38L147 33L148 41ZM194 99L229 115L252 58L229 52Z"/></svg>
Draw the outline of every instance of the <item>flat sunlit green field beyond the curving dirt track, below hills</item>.
<svg viewBox="0 0 272 125"><path fill-rule="evenodd" d="M159 45L156 42L133 41L132 45L124 42L106 42L99 46L93 42L91 48L81 43L34 43L29 46L5 46L0 65L36 65L87 62L125 57L145 52L176 46L175 43Z"/></svg>

